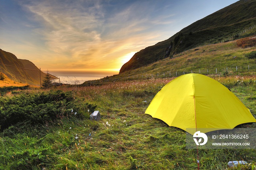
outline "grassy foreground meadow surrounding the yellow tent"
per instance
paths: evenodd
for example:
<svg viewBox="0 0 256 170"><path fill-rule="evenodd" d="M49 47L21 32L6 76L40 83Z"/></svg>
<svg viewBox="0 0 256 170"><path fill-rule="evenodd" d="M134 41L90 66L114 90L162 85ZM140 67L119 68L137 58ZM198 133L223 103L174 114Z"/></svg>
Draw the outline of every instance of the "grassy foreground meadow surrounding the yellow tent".
<svg viewBox="0 0 256 170"><path fill-rule="evenodd" d="M212 77L256 115L255 76ZM155 94L172 79L59 87L72 91L79 105L97 104L101 120L89 120L87 108L80 107L76 112L83 118L63 117L23 133L5 129L0 134L0 169L197 169L197 152L186 149L185 132L144 114ZM199 150L200 169L227 169L227 162L236 160L255 167L255 158L252 149Z"/></svg>

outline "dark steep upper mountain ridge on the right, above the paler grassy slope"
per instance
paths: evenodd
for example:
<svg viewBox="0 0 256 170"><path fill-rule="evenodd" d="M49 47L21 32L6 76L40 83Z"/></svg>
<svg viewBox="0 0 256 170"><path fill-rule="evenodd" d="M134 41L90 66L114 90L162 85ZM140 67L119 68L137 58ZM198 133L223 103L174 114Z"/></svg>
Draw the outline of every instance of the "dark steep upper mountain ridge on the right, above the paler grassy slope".
<svg viewBox="0 0 256 170"><path fill-rule="evenodd" d="M219 43L230 36L232 36L232 39L238 39L255 35L256 29L246 34L237 35L244 28L255 26L255 24L256 1L240 0L192 23L169 39L135 53L121 67L119 74L172 57L177 53L197 46Z"/></svg>

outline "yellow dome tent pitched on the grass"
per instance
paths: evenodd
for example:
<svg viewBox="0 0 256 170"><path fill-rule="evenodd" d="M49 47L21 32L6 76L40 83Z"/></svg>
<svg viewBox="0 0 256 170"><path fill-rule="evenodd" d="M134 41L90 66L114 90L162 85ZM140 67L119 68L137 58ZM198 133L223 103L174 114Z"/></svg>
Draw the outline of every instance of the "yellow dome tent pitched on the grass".
<svg viewBox="0 0 256 170"><path fill-rule="evenodd" d="M229 89L210 77L194 73L166 84L145 113L192 135L199 129L206 133L256 122L249 109Z"/></svg>

